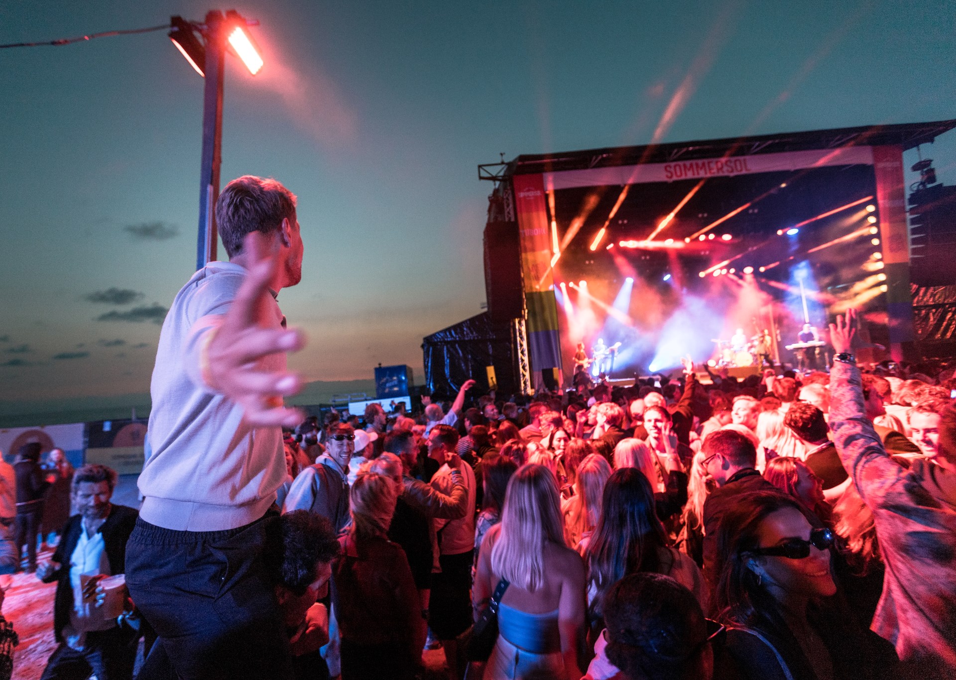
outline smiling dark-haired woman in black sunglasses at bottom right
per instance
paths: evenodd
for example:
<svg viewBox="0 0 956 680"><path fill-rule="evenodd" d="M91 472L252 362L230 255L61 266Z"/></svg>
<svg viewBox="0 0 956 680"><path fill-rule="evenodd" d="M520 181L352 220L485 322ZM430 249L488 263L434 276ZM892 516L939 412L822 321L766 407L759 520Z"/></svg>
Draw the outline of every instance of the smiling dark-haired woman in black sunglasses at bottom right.
<svg viewBox="0 0 956 680"><path fill-rule="evenodd" d="M834 534L799 501L744 494L722 515L715 539L711 596L744 677L862 680L893 666L892 648L834 597Z"/></svg>

